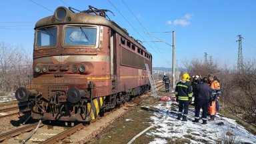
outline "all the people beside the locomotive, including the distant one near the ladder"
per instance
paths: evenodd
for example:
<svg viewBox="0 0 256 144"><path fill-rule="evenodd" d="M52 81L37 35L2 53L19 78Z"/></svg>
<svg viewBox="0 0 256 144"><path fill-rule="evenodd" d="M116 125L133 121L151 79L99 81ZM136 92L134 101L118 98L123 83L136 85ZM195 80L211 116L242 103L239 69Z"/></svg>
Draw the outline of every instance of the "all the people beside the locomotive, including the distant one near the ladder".
<svg viewBox="0 0 256 144"><path fill-rule="evenodd" d="M163 77L165 83L165 90L169 92L169 78ZM195 97L195 120L193 122L199 123L200 109L203 109L202 119L203 124L207 124L207 114L210 115L209 121L214 121L216 116L216 110L219 111L218 99L221 94L219 79L209 75L208 77L199 77L195 75L192 77L192 83L190 83L191 77L188 73L184 73L181 81L179 81L175 88L176 101L179 103L178 120L187 121L187 114L189 112L189 105L192 103L192 96ZM192 85L192 87L191 87ZM183 111L184 109L184 111ZM183 115L182 115L183 112Z"/></svg>

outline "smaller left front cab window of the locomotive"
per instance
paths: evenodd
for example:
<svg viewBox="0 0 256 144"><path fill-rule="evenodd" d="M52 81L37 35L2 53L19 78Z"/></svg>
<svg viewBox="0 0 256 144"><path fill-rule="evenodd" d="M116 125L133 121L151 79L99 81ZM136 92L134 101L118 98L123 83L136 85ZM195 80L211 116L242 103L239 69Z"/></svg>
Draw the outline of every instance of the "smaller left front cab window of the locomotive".
<svg viewBox="0 0 256 144"><path fill-rule="evenodd" d="M57 27L43 27L35 31L36 47L53 47L56 45Z"/></svg>

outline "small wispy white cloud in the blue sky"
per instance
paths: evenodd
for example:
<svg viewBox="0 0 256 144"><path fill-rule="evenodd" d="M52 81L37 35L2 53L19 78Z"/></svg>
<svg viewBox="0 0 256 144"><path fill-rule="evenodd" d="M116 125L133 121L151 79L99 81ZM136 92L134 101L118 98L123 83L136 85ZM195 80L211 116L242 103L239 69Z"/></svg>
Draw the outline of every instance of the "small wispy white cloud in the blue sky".
<svg viewBox="0 0 256 144"><path fill-rule="evenodd" d="M187 13L181 19L175 19L174 21L171 21L171 20L167 21L167 24L174 25L174 26L181 25L185 27L190 24L189 20L191 20L193 16L194 16L193 13Z"/></svg>

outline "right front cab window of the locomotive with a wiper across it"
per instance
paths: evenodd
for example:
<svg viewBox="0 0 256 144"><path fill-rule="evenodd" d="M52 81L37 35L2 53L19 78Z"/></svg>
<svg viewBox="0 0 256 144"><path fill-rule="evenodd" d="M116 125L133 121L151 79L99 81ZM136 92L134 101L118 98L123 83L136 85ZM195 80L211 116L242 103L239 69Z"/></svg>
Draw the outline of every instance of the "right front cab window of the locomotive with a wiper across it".
<svg viewBox="0 0 256 144"><path fill-rule="evenodd" d="M96 45L96 27L65 27L65 45Z"/></svg>

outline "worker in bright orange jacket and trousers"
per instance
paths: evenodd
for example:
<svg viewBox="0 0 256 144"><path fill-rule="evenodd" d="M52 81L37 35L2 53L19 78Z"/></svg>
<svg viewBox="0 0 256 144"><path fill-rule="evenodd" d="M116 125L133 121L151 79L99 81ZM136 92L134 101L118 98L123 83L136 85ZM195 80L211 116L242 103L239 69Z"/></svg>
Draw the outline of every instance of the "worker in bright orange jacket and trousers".
<svg viewBox="0 0 256 144"><path fill-rule="evenodd" d="M216 99L219 99L219 96L221 94L221 86L216 79L213 79L213 75L209 75L208 85L211 87L211 101L209 105L211 119L209 120L214 121L216 115Z"/></svg>

